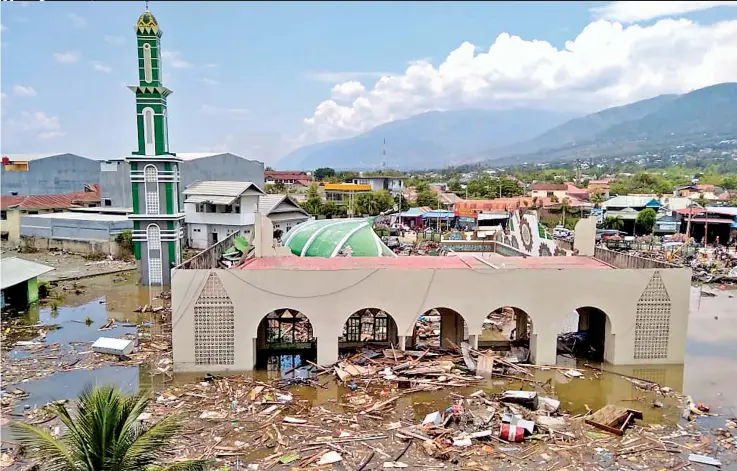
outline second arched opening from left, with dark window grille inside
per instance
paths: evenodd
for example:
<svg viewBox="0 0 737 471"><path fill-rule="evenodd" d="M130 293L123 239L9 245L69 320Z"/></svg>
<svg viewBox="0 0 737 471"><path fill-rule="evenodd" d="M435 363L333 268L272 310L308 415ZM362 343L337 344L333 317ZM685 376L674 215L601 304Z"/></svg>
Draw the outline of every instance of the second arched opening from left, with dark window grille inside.
<svg viewBox="0 0 737 471"><path fill-rule="evenodd" d="M338 347L396 347L398 341L397 324L392 316L381 309L367 308L354 312L343 324L343 335L338 339Z"/></svg>

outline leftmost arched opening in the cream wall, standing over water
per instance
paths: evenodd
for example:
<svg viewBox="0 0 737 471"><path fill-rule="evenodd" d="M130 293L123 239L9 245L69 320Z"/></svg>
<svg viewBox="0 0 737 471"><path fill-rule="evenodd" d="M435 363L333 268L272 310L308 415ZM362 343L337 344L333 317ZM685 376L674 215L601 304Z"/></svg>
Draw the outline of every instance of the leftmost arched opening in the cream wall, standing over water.
<svg viewBox="0 0 737 471"><path fill-rule="evenodd" d="M258 326L256 368L269 377L296 376L317 358L317 341L310 320L296 309L276 309Z"/></svg>

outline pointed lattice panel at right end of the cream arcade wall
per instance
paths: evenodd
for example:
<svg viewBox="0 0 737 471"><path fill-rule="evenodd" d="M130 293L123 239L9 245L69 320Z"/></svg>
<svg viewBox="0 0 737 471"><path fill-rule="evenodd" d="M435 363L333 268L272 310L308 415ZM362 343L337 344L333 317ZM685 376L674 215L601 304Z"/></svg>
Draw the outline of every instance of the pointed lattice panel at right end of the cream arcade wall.
<svg viewBox="0 0 737 471"><path fill-rule="evenodd" d="M660 272L653 273L640 299L635 317L635 359L668 357L670 336L670 296Z"/></svg>

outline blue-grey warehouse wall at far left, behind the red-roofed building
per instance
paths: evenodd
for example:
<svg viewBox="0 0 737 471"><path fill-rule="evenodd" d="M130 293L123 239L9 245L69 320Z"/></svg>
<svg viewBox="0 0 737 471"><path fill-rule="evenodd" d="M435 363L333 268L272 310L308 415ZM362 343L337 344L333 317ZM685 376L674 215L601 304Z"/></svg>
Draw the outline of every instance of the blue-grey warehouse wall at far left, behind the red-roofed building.
<svg viewBox="0 0 737 471"><path fill-rule="evenodd" d="M2 167L2 166L0 166ZM3 195L47 195L83 191L100 183L100 163L75 154L59 154L28 162L27 172L0 170Z"/></svg>

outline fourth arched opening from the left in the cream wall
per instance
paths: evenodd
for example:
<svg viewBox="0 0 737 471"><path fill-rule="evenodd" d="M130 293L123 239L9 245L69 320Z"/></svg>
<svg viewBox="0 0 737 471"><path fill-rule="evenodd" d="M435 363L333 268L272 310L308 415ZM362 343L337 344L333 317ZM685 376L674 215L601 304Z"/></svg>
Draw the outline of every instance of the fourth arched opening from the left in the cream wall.
<svg viewBox="0 0 737 471"><path fill-rule="evenodd" d="M489 313L479 337L479 347L507 351L519 362L530 360L534 349L532 319L520 308L503 306Z"/></svg>

